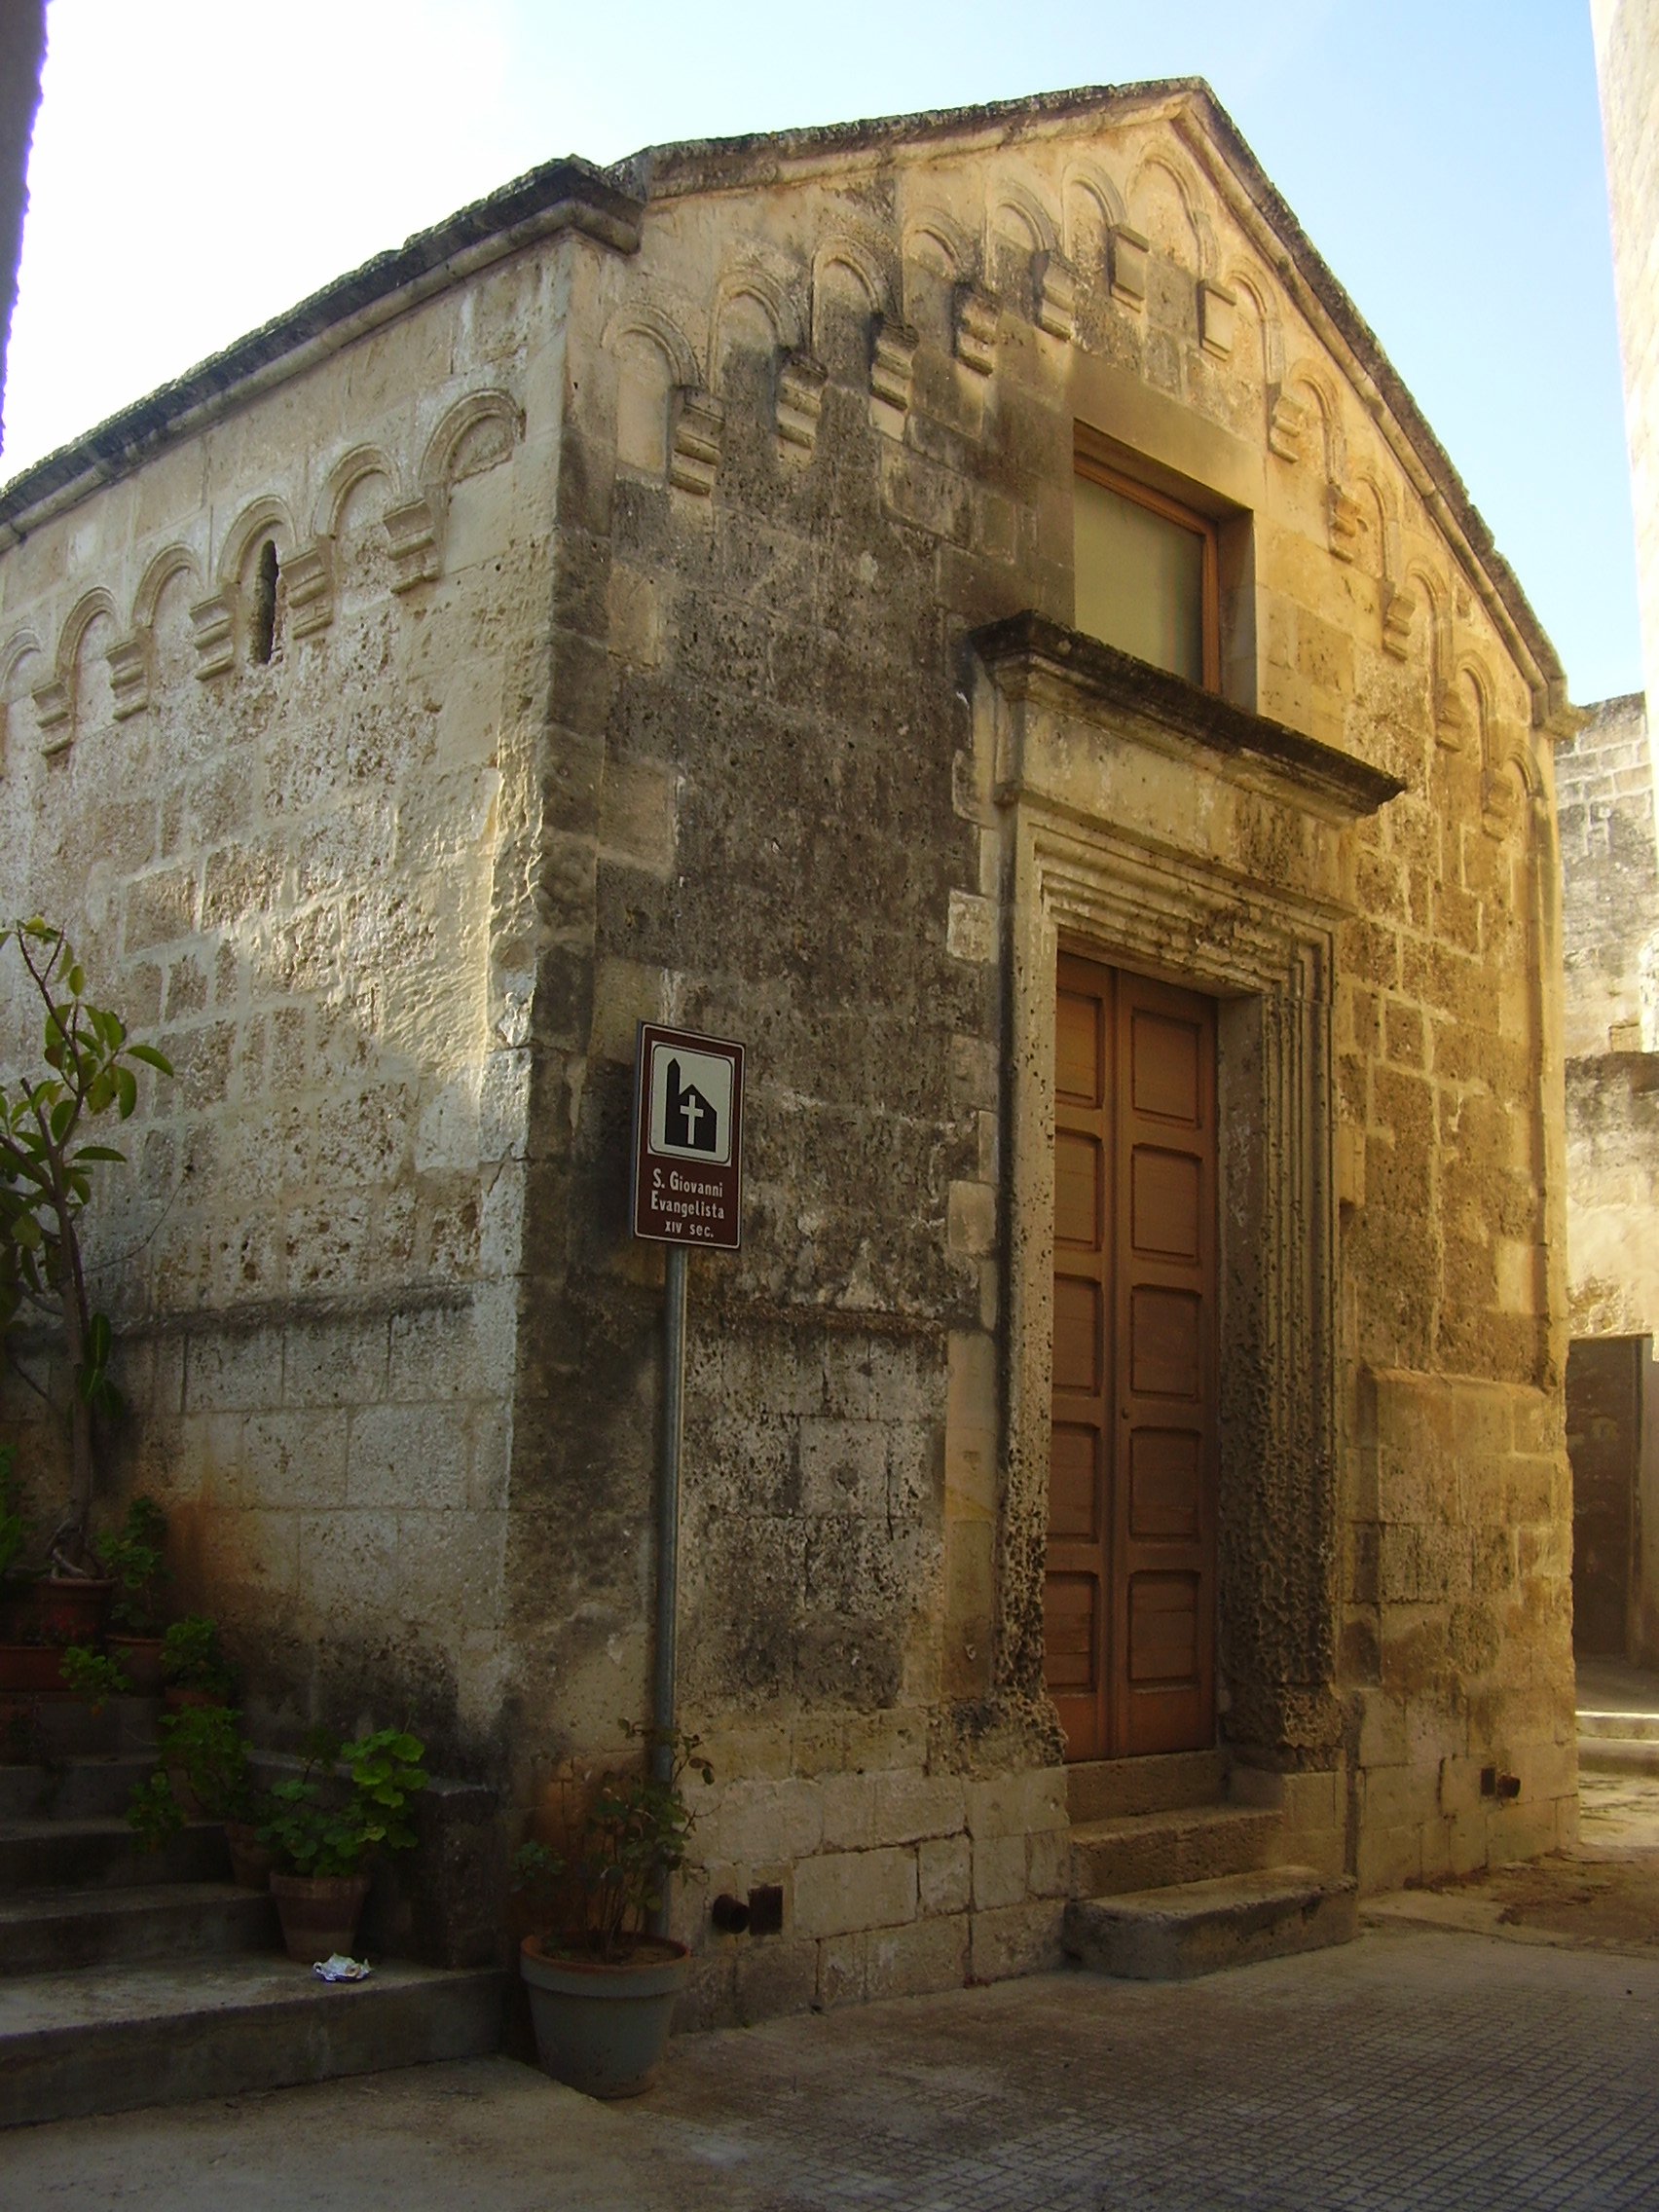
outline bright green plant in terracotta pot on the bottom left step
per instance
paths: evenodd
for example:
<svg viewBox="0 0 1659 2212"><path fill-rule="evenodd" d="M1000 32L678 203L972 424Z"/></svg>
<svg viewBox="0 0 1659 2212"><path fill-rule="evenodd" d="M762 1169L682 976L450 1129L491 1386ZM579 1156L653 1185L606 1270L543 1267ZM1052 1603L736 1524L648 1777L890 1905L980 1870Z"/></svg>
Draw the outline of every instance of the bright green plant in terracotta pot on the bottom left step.
<svg viewBox="0 0 1659 2212"><path fill-rule="evenodd" d="M303 1774L272 1783L259 1827L272 1854L283 1944L301 1964L352 1949L369 1893L367 1863L376 1851L414 1849L409 1798L427 1787L425 1745L403 1728L341 1743L334 1754L325 1743L310 1750Z"/></svg>

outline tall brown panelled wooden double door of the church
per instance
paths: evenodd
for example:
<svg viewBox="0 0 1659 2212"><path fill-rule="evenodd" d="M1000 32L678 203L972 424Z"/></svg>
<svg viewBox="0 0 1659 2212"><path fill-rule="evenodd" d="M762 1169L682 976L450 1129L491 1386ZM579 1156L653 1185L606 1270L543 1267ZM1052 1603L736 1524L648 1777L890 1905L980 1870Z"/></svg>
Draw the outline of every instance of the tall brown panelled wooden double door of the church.
<svg viewBox="0 0 1659 2212"><path fill-rule="evenodd" d="M1214 1004L1060 956L1046 1679L1068 1759L1214 1741Z"/></svg>

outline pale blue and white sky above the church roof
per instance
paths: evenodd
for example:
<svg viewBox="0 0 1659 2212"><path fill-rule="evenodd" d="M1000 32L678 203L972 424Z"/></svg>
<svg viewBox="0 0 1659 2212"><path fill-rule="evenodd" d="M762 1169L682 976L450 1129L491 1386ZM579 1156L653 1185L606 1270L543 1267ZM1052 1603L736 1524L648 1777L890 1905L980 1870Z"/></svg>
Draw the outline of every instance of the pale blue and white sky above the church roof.
<svg viewBox="0 0 1659 2212"><path fill-rule="evenodd" d="M1203 75L1577 699L1641 686L1586 0L51 0L0 478L538 161Z"/></svg>

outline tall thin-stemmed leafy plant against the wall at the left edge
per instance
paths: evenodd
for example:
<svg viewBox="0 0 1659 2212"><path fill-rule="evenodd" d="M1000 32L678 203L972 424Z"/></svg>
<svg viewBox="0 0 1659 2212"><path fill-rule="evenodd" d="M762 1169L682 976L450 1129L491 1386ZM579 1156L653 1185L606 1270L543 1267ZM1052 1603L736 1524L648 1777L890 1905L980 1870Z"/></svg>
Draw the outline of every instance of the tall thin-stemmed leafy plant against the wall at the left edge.
<svg viewBox="0 0 1659 2212"><path fill-rule="evenodd" d="M93 1197L93 1170L126 1152L86 1144L84 1128L137 1106L135 1062L173 1075L153 1044L133 1044L108 1006L86 998L86 975L66 933L42 916L0 927L13 945L42 1011L44 1075L0 1084L0 1327L24 1301L62 1314L69 1340L69 1515L53 1540L60 1566L84 1568L93 1504L93 1413L113 1418L122 1400L111 1380L113 1332L93 1307L80 1223Z"/></svg>

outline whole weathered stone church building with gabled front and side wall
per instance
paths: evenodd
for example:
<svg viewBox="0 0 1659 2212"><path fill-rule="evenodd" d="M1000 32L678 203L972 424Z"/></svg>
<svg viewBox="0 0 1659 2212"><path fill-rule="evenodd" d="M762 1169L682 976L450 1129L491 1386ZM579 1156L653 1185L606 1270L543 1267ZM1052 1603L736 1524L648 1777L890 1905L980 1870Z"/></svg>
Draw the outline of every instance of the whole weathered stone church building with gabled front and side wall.
<svg viewBox="0 0 1659 2212"><path fill-rule="evenodd" d="M697 2017L1057 1955L1079 1752L1360 1887L1571 1838L1562 675L1203 86L540 170L0 493L0 686L9 902L179 1071L111 1498L268 1732L515 1829L644 1719L666 1020Z"/></svg>

